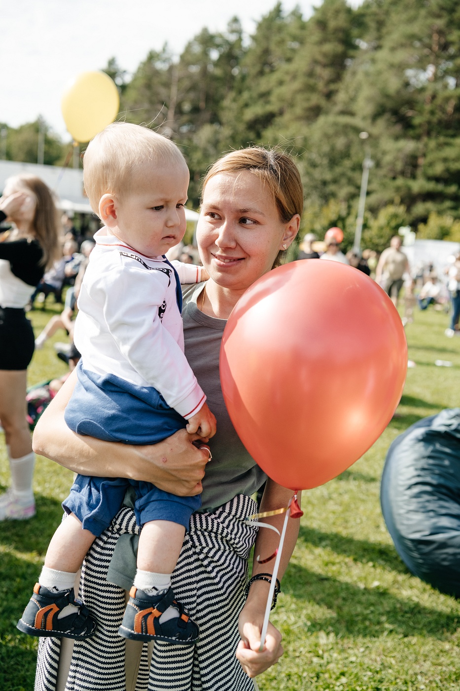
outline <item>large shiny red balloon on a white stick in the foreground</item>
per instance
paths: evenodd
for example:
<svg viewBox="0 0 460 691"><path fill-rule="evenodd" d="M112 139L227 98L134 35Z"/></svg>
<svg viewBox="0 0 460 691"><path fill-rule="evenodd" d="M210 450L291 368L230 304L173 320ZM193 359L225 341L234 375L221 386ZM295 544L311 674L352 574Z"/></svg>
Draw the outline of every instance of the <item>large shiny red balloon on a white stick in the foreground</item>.
<svg viewBox="0 0 460 691"><path fill-rule="evenodd" d="M408 348L387 294L353 267L296 261L233 309L220 379L242 443L278 484L310 489L381 435L401 399Z"/></svg>

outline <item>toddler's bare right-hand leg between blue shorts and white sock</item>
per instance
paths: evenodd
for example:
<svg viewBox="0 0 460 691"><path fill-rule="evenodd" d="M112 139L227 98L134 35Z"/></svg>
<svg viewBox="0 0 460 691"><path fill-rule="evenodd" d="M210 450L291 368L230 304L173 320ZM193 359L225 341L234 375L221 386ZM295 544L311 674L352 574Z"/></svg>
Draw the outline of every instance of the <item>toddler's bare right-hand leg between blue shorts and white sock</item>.
<svg viewBox="0 0 460 691"><path fill-rule="evenodd" d="M168 520L149 521L144 524L139 538L137 568L171 574L178 562L185 528Z"/></svg>

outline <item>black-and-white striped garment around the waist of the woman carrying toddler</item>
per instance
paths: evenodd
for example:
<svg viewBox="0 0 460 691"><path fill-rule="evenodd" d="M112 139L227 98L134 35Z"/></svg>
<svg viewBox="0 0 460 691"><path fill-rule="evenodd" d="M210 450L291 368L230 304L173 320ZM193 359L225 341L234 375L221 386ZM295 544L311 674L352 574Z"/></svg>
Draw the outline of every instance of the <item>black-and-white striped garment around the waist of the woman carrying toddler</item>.
<svg viewBox="0 0 460 691"><path fill-rule="evenodd" d="M195 645L157 641L148 664L142 647L135 691L253 691L235 652L240 640L238 615L245 603L247 560L256 529L247 515L256 504L245 495L213 513L194 513L186 533L173 589L200 626ZM97 632L75 641L66 691L126 691L125 640L118 635L125 608L125 592L106 580L117 539L139 533L131 509L122 509L111 527L86 556L79 597L97 618ZM40 638L35 691L55 691L59 638Z"/></svg>

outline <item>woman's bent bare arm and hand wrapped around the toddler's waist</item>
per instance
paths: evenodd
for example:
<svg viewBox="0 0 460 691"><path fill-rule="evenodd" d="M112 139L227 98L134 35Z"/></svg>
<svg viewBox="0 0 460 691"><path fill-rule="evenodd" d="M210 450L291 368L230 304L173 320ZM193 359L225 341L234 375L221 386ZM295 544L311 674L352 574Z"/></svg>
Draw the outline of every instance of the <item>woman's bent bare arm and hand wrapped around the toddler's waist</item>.
<svg viewBox="0 0 460 691"><path fill-rule="evenodd" d="M64 410L76 377L74 370L39 419L32 439L35 453L82 475L144 480L178 496L193 496L202 491L201 480L209 455L193 446L192 442L200 439L198 435L179 430L158 444L131 446L71 431L64 420Z"/></svg>

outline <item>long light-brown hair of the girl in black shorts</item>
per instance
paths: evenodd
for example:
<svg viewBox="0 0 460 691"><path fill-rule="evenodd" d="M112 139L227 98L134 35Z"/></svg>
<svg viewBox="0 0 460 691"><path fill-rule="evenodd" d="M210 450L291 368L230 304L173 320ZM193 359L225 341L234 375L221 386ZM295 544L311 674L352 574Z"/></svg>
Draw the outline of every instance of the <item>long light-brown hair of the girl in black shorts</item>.
<svg viewBox="0 0 460 691"><path fill-rule="evenodd" d="M12 178L8 178L5 182L32 193L35 199L32 229L43 252L40 263L42 266L49 268L59 256L59 231L61 228L58 211L50 188L40 178L26 173L12 176Z"/></svg>

